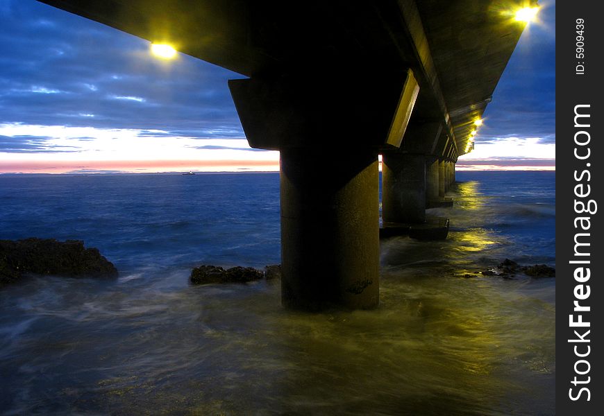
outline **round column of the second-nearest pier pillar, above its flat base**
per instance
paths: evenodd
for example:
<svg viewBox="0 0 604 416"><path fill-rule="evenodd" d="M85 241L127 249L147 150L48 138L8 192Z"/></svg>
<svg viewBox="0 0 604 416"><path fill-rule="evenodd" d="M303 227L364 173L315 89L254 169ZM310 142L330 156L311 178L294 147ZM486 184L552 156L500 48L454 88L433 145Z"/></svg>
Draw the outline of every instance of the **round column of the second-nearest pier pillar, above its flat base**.
<svg viewBox="0 0 604 416"><path fill-rule="evenodd" d="M385 153L382 159L384 223L426 221L426 157Z"/></svg>

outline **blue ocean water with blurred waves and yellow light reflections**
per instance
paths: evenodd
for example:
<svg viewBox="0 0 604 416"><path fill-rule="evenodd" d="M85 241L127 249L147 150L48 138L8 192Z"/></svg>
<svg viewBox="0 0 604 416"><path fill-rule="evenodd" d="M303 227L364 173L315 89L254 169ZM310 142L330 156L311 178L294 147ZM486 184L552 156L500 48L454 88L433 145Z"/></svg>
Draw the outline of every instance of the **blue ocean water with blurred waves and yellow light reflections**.
<svg viewBox="0 0 604 416"><path fill-rule="evenodd" d="M553 415L555 173L458 172L446 241L381 243L380 306L300 313L276 281L278 174L3 175L0 239L81 239L118 279L0 288L3 415ZM466 275L475 277L468 278Z"/></svg>

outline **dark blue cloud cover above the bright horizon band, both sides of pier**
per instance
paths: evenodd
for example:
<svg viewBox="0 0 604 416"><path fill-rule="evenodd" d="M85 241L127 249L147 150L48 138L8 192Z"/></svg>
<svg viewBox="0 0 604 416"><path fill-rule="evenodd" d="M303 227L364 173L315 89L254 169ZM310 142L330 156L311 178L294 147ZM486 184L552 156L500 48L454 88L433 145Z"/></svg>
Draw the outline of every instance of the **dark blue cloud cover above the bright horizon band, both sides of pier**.
<svg viewBox="0 0 604 416"><path fill-rule="evenodd" d="M544 26L523 34L477 141L555 142L555 1L540 3ZM0 27L0 123L244 137L226 84L237 73L186 55L156 60L140 38L35 0L0 0ZM22 150L42 147L39 140ZM15 151L10 146L17 144L0 151Z"/></svg>

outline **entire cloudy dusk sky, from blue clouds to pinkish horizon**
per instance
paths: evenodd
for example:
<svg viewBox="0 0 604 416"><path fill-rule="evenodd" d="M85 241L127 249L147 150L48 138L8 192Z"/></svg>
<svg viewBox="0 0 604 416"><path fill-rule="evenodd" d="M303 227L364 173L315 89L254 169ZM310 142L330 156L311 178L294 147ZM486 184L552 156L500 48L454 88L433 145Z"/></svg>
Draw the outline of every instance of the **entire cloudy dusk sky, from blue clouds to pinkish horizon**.
<svg viewBox="0 0 604 416"><path fill-rule="evenodd" d="M555 166L555 1L521 36L458 169ZM278 171L249 148L243 78L34 0L0 0L0 173Z"/></svg>

